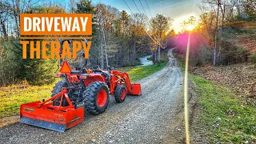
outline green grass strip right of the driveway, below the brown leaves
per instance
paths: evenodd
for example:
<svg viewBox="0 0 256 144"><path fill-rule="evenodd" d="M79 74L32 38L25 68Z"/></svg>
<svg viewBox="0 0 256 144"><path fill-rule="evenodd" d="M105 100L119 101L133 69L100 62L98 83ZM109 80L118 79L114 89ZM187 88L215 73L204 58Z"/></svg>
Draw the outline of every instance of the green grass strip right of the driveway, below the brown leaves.
<svg viewBox="0 0 256 144"><path fill-rule="evenodd" d="M200 95L200 120L210 143L256 142L256 109L242 103L232 91L204 78L190 75ZM216 118L221 120L216 121ZM217 125L214 127L214 125Z"/></svg>

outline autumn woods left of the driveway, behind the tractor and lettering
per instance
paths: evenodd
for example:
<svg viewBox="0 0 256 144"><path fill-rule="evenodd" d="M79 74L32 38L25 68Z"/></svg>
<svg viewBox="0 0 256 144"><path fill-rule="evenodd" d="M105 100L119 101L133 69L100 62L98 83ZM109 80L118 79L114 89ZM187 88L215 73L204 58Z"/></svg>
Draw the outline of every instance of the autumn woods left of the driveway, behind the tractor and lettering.
<svg viewBox="0 0 256 144"><path fill-rule="evenodd" d="M22 44L19 43L20 14L93 14L89 66L98 65L102 69L106 69L106 66L136 66L140 56L157 54L157 51L160 52L158 43L163 40L166 30L170 27L170 22L167 22L170 18L161 14L150 19L143 13L127 14L125 10L120 11L101 3L93 4L89 0L70 1L70 4L71 7L54 2L1 1L0 86L22 81L33 85L51 83L54 82L54 74L58 72L58 60L54 58L22 59ZM161 24L162 27L155 27L156 22L162 22L161 19L166 22ZM150 38L153 34L158 35L154 38L155 42ZM50 37L49 35L46 40L53 40ZM27 46L30 47L30 44ZM30 50L26 50L26 53L29 55ZM78 58L70 62L72 66L82 65L82 52L77 55ZM159 62L159 56L155 55L155 62Z"/></svg>

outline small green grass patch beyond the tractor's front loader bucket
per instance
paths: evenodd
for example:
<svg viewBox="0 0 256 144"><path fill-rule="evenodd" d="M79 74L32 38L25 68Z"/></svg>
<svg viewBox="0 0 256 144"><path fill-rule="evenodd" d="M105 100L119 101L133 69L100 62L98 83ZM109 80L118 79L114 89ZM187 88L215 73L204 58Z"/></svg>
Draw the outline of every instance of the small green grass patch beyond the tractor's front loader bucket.
<svg viewBox="0 0 256 144"><path fill-rule="evenodd" d="M162 70L164 66L166 66L167 62L161 62L160 64L154 64L151 66L141 66L141 67L121 67L118 68L120 71L126 71L129 74L130 81L136 82L142 78L146 78L155 72Z"/></svg>

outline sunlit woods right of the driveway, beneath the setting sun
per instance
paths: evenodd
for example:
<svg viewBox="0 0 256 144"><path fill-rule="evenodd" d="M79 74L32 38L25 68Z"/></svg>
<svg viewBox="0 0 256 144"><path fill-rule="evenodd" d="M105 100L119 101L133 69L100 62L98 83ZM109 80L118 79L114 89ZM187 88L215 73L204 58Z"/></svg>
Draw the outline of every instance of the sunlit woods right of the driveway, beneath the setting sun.
<svg viewBox="0 0 256 144"><path fill-rule="evenodd" d="M255 55L256 2L238 0L203 0L200 17L191 16L182 22L182 32L174 42L179 54L186 52L186 26L196 26L191 32L192 65L230 65L253 62ZM249 8L250 7L250 8ZM250 9L250 10L248 10ZM251 40L245 42L244 38ZM253 40L254 39L254 40ZM243 41L243 42L241 42ZM245 45L246 43L246 45ZM250 46L248 46L250 45Z"/></svg>

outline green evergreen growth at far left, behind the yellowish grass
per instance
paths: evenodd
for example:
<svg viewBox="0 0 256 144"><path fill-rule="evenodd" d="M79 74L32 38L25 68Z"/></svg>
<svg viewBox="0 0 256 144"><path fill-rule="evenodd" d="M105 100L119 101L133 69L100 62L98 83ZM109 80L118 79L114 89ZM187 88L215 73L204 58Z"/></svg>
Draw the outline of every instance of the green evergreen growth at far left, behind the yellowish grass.
<svg viewBox="0 0 256 144"><path fill-rule="evenodd" d="M29 47L29 46L28 46ZM0 86L27 81L32 85L54 82L58 63L52 59L22 59L22 46L16 40L0 45ZM30 55L30 50L27 50Z"/></svg>

